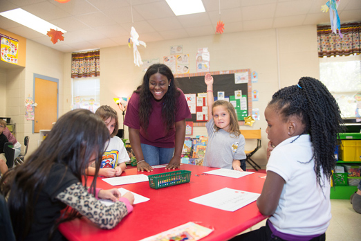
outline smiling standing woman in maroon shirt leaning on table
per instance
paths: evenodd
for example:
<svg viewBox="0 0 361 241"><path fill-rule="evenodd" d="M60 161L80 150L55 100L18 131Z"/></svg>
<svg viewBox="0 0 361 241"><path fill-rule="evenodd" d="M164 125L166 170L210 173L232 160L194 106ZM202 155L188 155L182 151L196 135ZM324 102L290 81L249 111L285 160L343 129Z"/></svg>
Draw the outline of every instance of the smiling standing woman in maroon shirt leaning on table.
<svg viewBox="0 0 361 241"><path fill-rule="evenodd" d="M138 171L150 172L151 166L166 163L167 169L179 168L185 118L191 117L172 71L165 64L151 65L130 98L124 119Z"/></svg>

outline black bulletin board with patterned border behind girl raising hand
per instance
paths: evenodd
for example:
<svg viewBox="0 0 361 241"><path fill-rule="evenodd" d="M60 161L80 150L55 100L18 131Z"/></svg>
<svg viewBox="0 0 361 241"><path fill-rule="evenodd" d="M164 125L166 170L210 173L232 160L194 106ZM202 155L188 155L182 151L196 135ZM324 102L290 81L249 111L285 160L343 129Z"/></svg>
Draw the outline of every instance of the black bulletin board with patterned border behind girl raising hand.
<svg viewBox="0 0 361 241"><path fill-rule="evenodd" d="M250 69L239 69L235 71L215 71L210 72L213 76L213 96L217 97L218 91L224 91L225 97L234 96L234 91L241 90L242 96L246 96L247 100L247 116L252 114L252 84L251 84L251 71ZM235 82L236 73L248 73L248 82L237 83ZM176 75L175 79L179 83L179 88L183 93L206 93L207 86L204 82L205 73L190 73L184 75ZM243 112L244 113L244 112ZM243 114L244 116L244 114ZM194 126L204 126L205 121L197 121L196 114L192 114L192 118L186 121L194 122ZM239 121L243 125L244 121Z"/></svg>

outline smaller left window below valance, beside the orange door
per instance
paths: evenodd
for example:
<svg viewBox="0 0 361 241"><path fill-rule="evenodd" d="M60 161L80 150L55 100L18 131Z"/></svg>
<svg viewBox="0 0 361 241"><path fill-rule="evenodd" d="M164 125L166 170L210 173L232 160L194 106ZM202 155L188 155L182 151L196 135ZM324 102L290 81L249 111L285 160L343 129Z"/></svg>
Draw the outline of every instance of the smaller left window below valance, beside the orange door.
<svg viewBox="0 0 361 241"><path fill-rule="evenodd" d="M89 109L95 112L100 106L100 79L73 78L71 109Z"/></svg>

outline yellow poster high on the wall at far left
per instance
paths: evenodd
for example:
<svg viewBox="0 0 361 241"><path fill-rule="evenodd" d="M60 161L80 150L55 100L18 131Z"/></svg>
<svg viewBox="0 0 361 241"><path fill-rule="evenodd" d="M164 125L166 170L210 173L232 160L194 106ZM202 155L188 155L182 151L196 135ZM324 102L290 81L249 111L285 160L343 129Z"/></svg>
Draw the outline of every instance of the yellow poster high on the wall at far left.
<svg viewBox="0 0 361 241"><path fill-rule="evenodd" d="M19 40L0 33L1 37L1 60L10 64L17 64L17 52Z"/></svg>

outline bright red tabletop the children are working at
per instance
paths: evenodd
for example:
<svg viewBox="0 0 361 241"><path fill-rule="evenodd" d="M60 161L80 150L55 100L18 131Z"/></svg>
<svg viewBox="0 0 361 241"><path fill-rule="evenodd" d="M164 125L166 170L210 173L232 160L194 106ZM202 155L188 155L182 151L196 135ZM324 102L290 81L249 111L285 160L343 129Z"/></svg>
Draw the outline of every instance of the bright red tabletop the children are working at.
<svg viewBox="0 0 361 241"><path fill-rule="evenodd" d="M265 176L265 174L254 172L238 179L203 174L203 172L214 169L216 168L183 164L180 166L180 170L192 171L190 182L158 190L150 188L147 181L115 186L115 188L122 187L139 195L149 197L150 200L134 205L133 212L124 217L120 224L111 230L99 229L86 218L60 224L59 230L68 240L133 241L167 231L187 222L196 222L207 228L214 229L202 241L228 240L266 219L267 216L259 213L256 202L252 202L234 212L189 202L189 199L212 193L221 188L261 193L265 181L261 177ZM131 168L125 170L122 176L141 173L153 175L162 172L170 172L170 170L158 168L153 172L137 172L136 168ZM89 178L88 181L91 180L92 178ZM97 187L114 188L100 178L98 178Z"/></svg>

